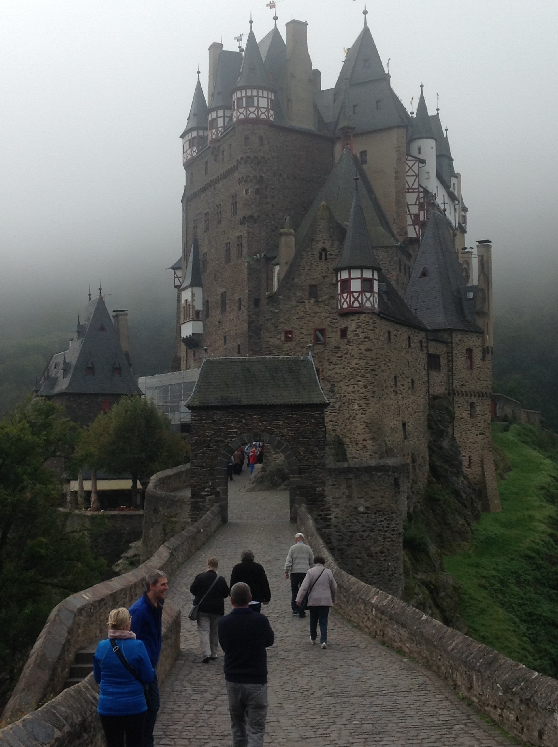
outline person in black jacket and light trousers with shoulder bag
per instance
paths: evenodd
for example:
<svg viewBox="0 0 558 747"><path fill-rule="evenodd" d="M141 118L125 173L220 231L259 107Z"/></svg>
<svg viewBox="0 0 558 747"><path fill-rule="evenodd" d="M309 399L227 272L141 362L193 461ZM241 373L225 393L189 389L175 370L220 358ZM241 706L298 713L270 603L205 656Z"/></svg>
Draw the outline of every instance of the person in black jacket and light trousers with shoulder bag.
<svg viewBox="0 0 558 747"><path fill-rule="evenodd" d="M208 558L208 569L205 573L197 574L190 594L193 594L193 604L199 604L198 610L198 633L199 645L202 648L202 662L207 664L212 659L217 659L217 645L219 637L217 624L225 614L224 599L229 596L229 586L223 576L217 576L219 561L217 558ZM217 581L214 583L215 579ZM214 586L210 589L211 584ZM204 597L205 592L208 592ZM202 601L203 599L203 601Z"/></svg>

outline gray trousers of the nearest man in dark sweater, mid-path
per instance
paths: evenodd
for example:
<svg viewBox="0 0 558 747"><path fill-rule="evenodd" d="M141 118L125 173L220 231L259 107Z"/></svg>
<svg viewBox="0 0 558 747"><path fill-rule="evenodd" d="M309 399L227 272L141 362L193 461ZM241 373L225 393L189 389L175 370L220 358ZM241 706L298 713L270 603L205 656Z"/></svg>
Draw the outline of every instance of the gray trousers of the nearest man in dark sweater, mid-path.
<svg viewBox="0 0 558 747"><path fill-rule="evenodd" d="M267 684L226 682L231 713L232 747L261 747L267 716Z"/></svg>

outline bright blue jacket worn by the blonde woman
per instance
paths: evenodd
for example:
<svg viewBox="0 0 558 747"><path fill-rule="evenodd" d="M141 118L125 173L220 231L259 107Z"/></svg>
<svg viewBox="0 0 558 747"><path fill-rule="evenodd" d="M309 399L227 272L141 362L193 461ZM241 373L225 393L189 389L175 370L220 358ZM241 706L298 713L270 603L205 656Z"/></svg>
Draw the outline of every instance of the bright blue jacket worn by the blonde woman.
<svg viewBox="0 0 558 747"><path fill-rule="evenodd" d="M148 684L155 677L146 647L134 639L117 639L125 660ZM99 687L97 710L102 716L132 716L147 710L143 685L128 672L112 650L113 643L105 638L97 646L93 657L93 676Z"/></svg>

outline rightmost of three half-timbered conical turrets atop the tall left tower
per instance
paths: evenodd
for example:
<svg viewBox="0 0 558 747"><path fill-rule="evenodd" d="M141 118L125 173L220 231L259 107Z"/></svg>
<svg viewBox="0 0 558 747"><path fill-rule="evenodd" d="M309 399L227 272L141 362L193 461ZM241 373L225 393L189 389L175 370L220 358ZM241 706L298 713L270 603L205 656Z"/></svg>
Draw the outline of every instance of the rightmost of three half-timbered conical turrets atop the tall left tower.
<svg viewBox="0 0 558 747"><path fill-rule="evenodd" d="M265 70L264 61L261 59L258 43L252 31L252 21L250 21L241 72L232 93L233 122L247 120L273 122L275 119L274 99L275 94Z"/></svg>

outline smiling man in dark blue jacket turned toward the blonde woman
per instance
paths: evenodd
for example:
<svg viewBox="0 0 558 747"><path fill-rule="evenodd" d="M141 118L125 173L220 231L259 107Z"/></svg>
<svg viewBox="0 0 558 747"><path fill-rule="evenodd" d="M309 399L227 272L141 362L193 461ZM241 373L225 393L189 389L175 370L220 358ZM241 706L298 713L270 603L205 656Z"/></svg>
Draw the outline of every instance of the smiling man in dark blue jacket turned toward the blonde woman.
<svg viewBox="0 0 558 747"><path fill-rule="evenodd" d="M153 729L159 710L159 684L157 681L157 664L161 654L162 618L164 598L169 584L163 571L152 571L146 576L146 591L137 602L131 605L131 630L136 638L143 641L149 660L155 669L155 678L148 685L147 713L143 747L153 747Z"/></svg>

